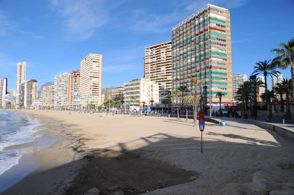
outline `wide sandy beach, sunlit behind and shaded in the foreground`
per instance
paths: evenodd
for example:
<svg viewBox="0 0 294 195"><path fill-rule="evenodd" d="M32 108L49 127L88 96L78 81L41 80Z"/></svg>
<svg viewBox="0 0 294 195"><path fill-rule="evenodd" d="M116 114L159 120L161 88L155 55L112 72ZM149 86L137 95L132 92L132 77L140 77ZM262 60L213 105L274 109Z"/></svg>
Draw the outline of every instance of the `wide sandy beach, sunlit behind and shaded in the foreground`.
<svg viewBox="0 0 294 195"><path fill-rule="evenodd" d="M277 166L294 163L294 142L254 125L206 123L201 153L190 119L21 111L61 139L35 152L40 167L1 195L84 195L92 188L100 195L242 195L256 174L279 178L267 183L269 191L294 182L294 167ZM107 190L112 186L121 190Z"/></svg>

